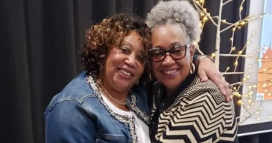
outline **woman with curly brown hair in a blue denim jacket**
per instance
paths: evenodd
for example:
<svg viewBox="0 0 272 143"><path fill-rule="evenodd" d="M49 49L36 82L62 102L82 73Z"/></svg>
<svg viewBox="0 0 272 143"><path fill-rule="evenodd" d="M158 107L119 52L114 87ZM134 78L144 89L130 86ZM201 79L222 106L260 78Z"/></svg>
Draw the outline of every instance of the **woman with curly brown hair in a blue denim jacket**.
<svg viewBox="0 0 272 143"><path fill-rule="evenodd" d="M150 95L144 86L150 77L151 33L144 20L114 15L93 25L86 40L86 71L45 110L46 142L150 142ZM219 73L212 61L200 64Z"/></svg>

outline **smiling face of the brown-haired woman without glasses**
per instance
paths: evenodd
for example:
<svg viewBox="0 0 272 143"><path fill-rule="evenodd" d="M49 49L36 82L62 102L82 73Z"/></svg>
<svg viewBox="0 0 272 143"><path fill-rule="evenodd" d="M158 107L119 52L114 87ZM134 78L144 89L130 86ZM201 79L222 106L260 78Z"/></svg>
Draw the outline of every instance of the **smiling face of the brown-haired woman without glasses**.
<svg viewBox="0 0 272 143"><path fill-rule="evenodd" d="M144 73L142 37L130 31L120 47L113 47L107 55L102 75L107 88L129 91Z"/></svg>

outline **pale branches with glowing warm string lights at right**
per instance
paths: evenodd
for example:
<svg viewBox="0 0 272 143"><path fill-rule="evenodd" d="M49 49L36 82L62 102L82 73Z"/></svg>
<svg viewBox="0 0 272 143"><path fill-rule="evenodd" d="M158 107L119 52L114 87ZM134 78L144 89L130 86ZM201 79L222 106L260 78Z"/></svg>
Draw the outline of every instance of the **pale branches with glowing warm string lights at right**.
<svg viewBox="0 0 272 143"><path fill-rule="evenodd" d="M230 67L227 67L226 70L225 70L225 73L226 75L232 75L232 74L243 74L244 77L241 79L241 82L237 82L237 83L234 83L232 84L232 96L237 96L237 97L243 97L243 100L238 100L237 103L238 105L243 105L245 104L245 107L250 109L250 111L252 111L252 113L255 113L255 114L259 114L264 107L255 107L253 105L255 105L255 103L253 103L253 93L255 93L255 91L257 90L257 84L259 85L258 82L252 82L252 80L250 80L250 75L247 74L248 70L250 68L252 68L252 64L249 64L248 65L248 68L244 70L244 72L236 72L236 68L237 66L239 65L239 58L253 58L255 59L257 62L261 62L262 59L257 59L255 58L255 55L257 53L259 53L260 51L264 50L259 48L257 51L254 51L254 54L250 55L250 54L243 54L243 51L246 50L247 46L250 45L250 39L248 41L246 41L245 45L243 48L239 48L239 52L236 52L237 54L234 54L234 50L236 50L236 47L234 46L234 33L235 31L237 31L237 29L241 29L243 28L246 24L248 24L249 22L251 22L252 20L257 20L257 19L260 19L263 17L263 15L249 15L248 17L245 17L244 19L241 18L241 11L243 11L243 3L241 4L241 6L239 7L239 20L236 21L236 22L233 22L233 23L229 23L227 22L227 20L222 20L221 17L222 15L216 15L216 16L213 16L211 17L211 14L210 13L207 13L207 9L204 8L204 3L205 1L204 0L193 0L195 6L197 7L197 10L199 12L199 15L201 16L201 24L199 24L199 27L201 27L202 29L204 28L204 24L207 20L211 21L213 23L213 25L215 25L216 27L218 27L218 25L221 23L223 24L228 24L229 26L227 26L226 28L222 29L221 30L221 27L219 27L219 31L216 31L216 36L220 36L220 33L222 33L223 31L226 31L226 30L232 30L232 37L229 38L229 40L231 41L232 43L232 46L229 48L230 49L230 52L229 54L219 54L218 53L212 53L211 54L211 57L213 57L213 59L216 59L216 63L220 63L219 62L219 58L218 56L224 56L224 57L236 57L236 60L234 62L234 71L229 71ZM225 3L223 3L222 5L220 5L220 9L222 9L221 6L224 6ZM220 12L222 13L222 11ZM269 13L265 13L266 15L268 15ZM213 19L214 18L217 18L218 19L218 22L216 23L216 21L214 21ZM255 36L256 35L256 32L253 31L251 33L251 36ZM218 39L216 39L216 41L218 41ZM220 43L220 41L219 41ZM219 44L220 45L220 44ZM216 50L217 52L220 53L220 48L218 48L218 46L216 47ZM267 59L266 61L269 60L269 57L266 56L266 57L263 57L263 59ZM263 60L264 61L264 60ZM254 63L255 64L255 63ZM219 67L219 65L217 65ZM266 69L264 68L262 70L262 72L265 72L265 74L268 72L269 69ZM247 75L245 75L247 74ZM250 86L248 86L248 83L250 83ZM234 85L239 85L239 86L234 86ZM271 96L271 93L269 92L269 86L272 85L272 80L270 82L267 82L267 83L264 83L264 84L261 84L264 88L264 93L265 95L267 96ZM246 93L245 95L241 95L239 92L241 91L240 88L241 86L248 86L248 93ZM256 110L257 109L257 110ZM250 114L252 114L250 113ZM245 116L243 114L241 114L241 116ZM252 117L254 119L257 119L258 121L262 120L262 119L272 119L272 115L270 116L248 116L248 117ZM245 116L245 119L248 119L247 116Z"/></svg>

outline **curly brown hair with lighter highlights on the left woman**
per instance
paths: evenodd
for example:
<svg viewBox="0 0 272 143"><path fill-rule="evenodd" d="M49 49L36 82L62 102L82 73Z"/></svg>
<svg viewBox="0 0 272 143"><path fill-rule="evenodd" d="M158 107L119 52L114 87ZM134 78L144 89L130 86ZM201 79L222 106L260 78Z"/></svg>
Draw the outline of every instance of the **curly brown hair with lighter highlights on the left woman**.
<svg viewBox="0 0 272 143"><path fill-rule="evenodd" d="M100 73L109 50L114 46L121 46L123 38L132 30L142 36L144 45L144 73L139 79L139 84L150 80L151 60L148 50L151 47L151 31L144 20L137 15L119 14L104 19L86 31L86 44L82 47L81 63L84 69L96 75Z"/></svg>

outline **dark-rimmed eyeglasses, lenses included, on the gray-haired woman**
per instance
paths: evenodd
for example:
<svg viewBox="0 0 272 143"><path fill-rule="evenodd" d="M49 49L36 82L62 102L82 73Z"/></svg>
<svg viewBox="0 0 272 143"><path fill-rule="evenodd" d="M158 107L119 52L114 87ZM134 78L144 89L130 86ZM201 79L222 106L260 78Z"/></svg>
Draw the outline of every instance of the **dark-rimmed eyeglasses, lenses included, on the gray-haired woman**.
<svg viewBox="0 0 272 143"><path fill-rule="evenodd" d="M163 61L166 57L166 53L169 52L170 56L174 60L183 59L186 55L187 47L190 45L175 45L170 50L162 50L160 47L153 47L149 50L151 59L156 62Z"/></svg>

